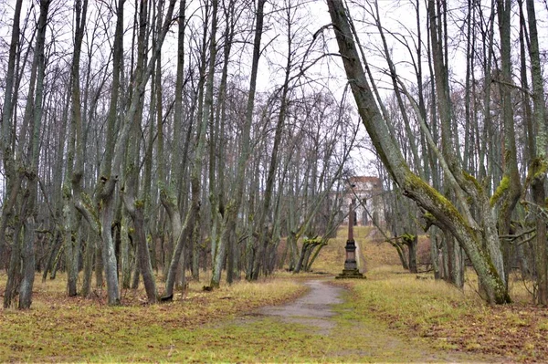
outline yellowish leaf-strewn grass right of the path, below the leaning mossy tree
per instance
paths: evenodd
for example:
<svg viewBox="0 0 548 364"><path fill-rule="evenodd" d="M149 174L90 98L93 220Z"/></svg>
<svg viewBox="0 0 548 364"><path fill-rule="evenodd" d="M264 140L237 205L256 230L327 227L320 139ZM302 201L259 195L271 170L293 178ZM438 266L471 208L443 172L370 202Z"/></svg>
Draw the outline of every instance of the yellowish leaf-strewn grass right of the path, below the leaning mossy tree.
<svg viewBox="0 0 548 364"><path fill-rule="evenodd" d="M416 279L397 266L379 267L368 273L367 281L343 284L352 289L358 317L377 317L436 348L512 362L548 358L548 312L527 303L526 290L517 282L511 292L517 302L496 307L481 300L472 273L467 274L464 290L443 281Z"/></svg>

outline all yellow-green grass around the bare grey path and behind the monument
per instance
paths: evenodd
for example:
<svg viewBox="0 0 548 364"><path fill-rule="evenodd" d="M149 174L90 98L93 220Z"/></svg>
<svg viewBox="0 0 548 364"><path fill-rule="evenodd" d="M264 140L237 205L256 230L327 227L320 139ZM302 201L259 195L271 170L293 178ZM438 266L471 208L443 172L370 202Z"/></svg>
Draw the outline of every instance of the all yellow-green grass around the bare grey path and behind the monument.
<svg viewBox="0 0 548 364"><path fill-rule="evenodd" d="M190 282L172 303L144 305L143 289L122 291L122 307L68 298L64 276L37 277L32 309L0 309L0 361L184 362L411 362L539 361L548 358L548 312L530 303L522 282L511 280L515 303L486 306L477 278L464 290L416 279L399 266L395 249L357 227L366 280L334 281L342 271L346 229L325 246L314 272L279 272L258 283L237 282L213 292ZM423 238L424 239L424 238ZM206 275L204 275L206 276ZM301 295L306 279L349 288L329 335L300 323L249 315ZM5 275L0 275L5 286Z"/></svg>

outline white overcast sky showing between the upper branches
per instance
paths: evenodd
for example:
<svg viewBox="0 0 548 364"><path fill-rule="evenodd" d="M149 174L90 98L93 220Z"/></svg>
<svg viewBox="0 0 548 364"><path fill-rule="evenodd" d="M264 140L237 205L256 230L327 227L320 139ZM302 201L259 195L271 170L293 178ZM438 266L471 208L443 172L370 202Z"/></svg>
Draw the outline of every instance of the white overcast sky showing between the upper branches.
<svg viewBox="0 0 548 364"><path fill-rule="evenodd" d="M349 2L352 3L352 1L350 0ZM28 8L31 3L31 0L25 0L25 7ZM195 20L199 23L201 21L199 19L199 16L201 16L201 14L200 11L196 9L197 4L199 3L192 0L189 0L188 3L189 10L187 11L187 17L190 16L190 14L193 14ZM281 72L281 68L285 64L284 48L287 45L287 41L283 33L284 26L279 24L280 14L273 13L272 10L275 7L282 6L283 3L284 0L270 0L267 3L267 7L265 9L267 14L267 17L265 19L266 31L263 35L262 41L263 47L265 47L265 49L263 57L261 58L259 64L259 91L271 91L273 88L279 87L280 83L282 82L281 79L283 72ZM301 24L298 36L302 38L302 41L304 43L308 43L310 42L312 36L318 30L320 30L322 26L326 26L331 22L331 19L328 14L327 5L324 0L300 0L300 3L302 3L303 5L299 11L301 16ZM424 8L425 2L420 1L419 3L421 4L421 6L423 6L423 8L421 9L421 14L424 18L426 16L426 10ZM484 1L484 3L486 3L486 5L490 4L490 2L488 3L487 1ZM37 2L35 1L34 4L37 4ZM66 2L64 0L54 0L51 5L51 12L55 14L56 20L54 23L51 24L50 29L48 29L48 36L55 36L58 40L56 49L50 49L51 52L56 54L55 57L62 57L63 55L67 57L70 52L72 43L72 13L70 4L71 2ZM89 22L90 27L95 26L94 22L98 20L97 10L94 10L98 4L101 4L99 0L90 0L89 18L92 19ZM103 2L102 4L106 3ZM356 4L367 5L370 4L370 2L357 0ZM466 10L459 7L462 6L461 4L464 4L464 2L456 0L448 1L450 17L458 17L458 15L462 11ZM0 0L0 41L2 42L9 42L13 6L15 6L15 0ZM402 0L380 0L379 6L383 25L389 28L391 31L395 32L398 36L403 36L407 39L410 39L408 36L408 30L406 30L406 28L411 29L412 32L416 32L416 19L413 6L411 6L409 2ZM546 24L546 21L548 21L548 14L546 12L545 6L546 5L543 1L539 0L536 2L537 21L539 22L539 36L541 37L543 45L546 45L548 40L548 27ZM178 5L176 5L176 9L177 8ZM516 10L516 8L517 5L514 5L514 10ZM128 28L132 24L133 11L133 1L128 0L126 2L125 13L125 19ZM24 19L25 16L22 17ZM374 69L379 68L376 69L377 72L375 73L375 77L381 81L379 82L379 86L384 87L385 85L388 85L388 82L386 81L386 78L382 73L382 71L386 68L385 61L382 59L382 57L379 57L378 54L378 47L380 47L380 42L377 38L378 31L374 29L374 27L372 27L370 24L368 24L369 22L371 22L370 16L363 15L363 13L358 10L356 10L355 12L353 10L353 18L355 26L358 27L359 31L361 32L361 42L366 48L367 57L370 65L374 66ZM108 31L112 34L114 31L115 18L103 18L101 20L104 22L111 22L111 26ZM517 22L517 15L515 13L512 15L512 22L514 22L514 24ZM458 24L449 27L449 29L454 29L452 31L450 30L450 33L451 36L454 36L455 44L457 44L459 39L459 31L457 26ZM220 36L222 33L222 27L223 26L221 25L219 28L218 36ZM421 22L421 28L421 31L423 32L423 39L426 42L426 19L423 19L423 21ZM495 33L497 33L497 30L495 31ZM326 38L332 39L331 29L323 30L323 34L326 36ZM100 37L101 35L99 34L96 36ZM126 39L124 40L124 47L126 50L130 47L131 36L132 32L128 31ZM173 73L174 57L176 55L176 47L174 47L174 45L176 44L175 37L175 32L172 32L167 37L165 46L163 47L163 63L165 65L164 68L167 71L171 71ZM512 37L513 41L515 41L515 39L517 39L517 30L514 30L514 35ZM320 39L317 40L321 41ZM252 41L252 39L248 38L248 41ZM392 56L394 57L396 67L398 68L398 72L400 73L400 75L404 78L408 78L411 82L415 82L416 78L411 76L407 70L408 66L406 66L406 62L408 61L409 57L406 54L406 51L404 51L404 48L399 45L393 37L388 37L387 41L392 51ZM335 53L338 50L334 40L328 41L327 46L328 47L325 49L326 52ZM94 57L96 57L99 62L106 62L110 52L109 43L102 42L100 45L95 45L95 47L95 51L97 53L95 53ZM460 47L457 47L456 50L453 51L450 57L451 61L449 65L456 75L456 78L460 79L463 78L463 76L461 75L464 74L465 68L465 62L463 61L465 57L463 47L464 45L460 45ZM3 46L2 48L5 49L5 46ZM248 72L250 68L250 64L247 65L246 63L246 59L250 60L251 58L250 51L250 47L247 47L244 52L238 51L237 46L233 51L234 63L232 71L234 74L239 75L244 80L248 77ZM514 50L514 54L512 55L514 58L517 57L516 52L517 50ZM312 54L311 58L318 57L319 54L320 53L318 52ZM424 49L423 54L426 54L426 48ZM545 54L546 50L545 47L543 47L543 55L545 56ZM5 59L5 54L0 54L0 57L3 57ZM3 65L5 65L4 59L0 59L0 63L2 63ZM67 59L69 59L69 57L67 57ZM248 63L250 63L250 61ZM236 68L237 66L239 67ZM514 69L514 73L517 74L517 69ZM426 67L425 75L427 75ZM325 89L329 89L334 95L337 95L339 97L342 95L342 89L344 88L346 80L344 78L344 74L341 68L341 62L339 60L334 59L333 57L324 58L321 62L318 63L317 66L310 69L309 76L310 78L319 79L319 81L313 85L315 88L318 88L322 85L323 87L325 87ZM329 78L326 78L325 76L329 76ZM384 92L385 94L388 94L389 91ZM367 155L367 153L364 153L364 155Z"/></svg>

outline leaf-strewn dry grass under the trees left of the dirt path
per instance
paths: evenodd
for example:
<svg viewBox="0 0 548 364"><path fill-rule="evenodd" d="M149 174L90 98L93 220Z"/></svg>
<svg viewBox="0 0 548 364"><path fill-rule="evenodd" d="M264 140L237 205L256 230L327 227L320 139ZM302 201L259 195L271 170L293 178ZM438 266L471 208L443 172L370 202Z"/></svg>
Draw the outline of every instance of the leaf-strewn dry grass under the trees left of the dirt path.
<svg viewBox="0 0 548 364"><path fill-rule="evenodd" d="M123 291L126 306L109 307L102 292L93 299L68 298L63 279L37 277L30 310L0 310L0 361L138 361L167 359L174 338L205 324L299 296L303 287L287 279L237 282L213 292L192 282L172 303L143 305L143 289ZM178 333L178 334L177 334ZM126 357L132 353L132 358Z"/></svg>

